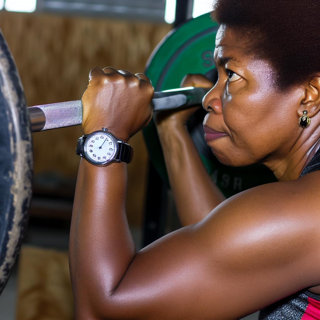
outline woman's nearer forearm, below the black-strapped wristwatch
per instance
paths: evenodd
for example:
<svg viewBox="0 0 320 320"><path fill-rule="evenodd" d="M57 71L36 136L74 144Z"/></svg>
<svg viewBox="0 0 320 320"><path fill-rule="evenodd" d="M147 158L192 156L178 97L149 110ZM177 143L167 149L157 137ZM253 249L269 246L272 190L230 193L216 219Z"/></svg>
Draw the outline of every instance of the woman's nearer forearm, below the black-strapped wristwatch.
<svg viewBox="0 0 320 320"><path fill-rule="evenodd" d="M81 160L69 245L76 310L86 301L95 309L88 312L99 312L136 254L125 212L126 167Z"/></svg>

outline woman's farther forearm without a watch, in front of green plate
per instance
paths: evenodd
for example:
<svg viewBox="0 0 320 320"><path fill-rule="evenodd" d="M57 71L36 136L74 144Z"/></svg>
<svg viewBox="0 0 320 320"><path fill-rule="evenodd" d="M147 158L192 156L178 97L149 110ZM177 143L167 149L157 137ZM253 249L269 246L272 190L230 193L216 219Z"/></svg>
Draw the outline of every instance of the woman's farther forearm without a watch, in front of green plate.
<svg viewBox="0 0 320 320"><path fill-rule="evenodd" d="M207 173L196 147L181 124L158 133L178 215L183 226L202 220L225 197Z"/></svg>

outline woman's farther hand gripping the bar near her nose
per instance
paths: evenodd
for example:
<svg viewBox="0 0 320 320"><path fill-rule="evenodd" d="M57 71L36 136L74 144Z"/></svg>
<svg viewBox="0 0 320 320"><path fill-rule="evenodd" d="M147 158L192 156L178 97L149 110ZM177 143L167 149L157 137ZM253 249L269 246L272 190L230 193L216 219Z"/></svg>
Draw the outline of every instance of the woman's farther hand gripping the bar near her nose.
<svg viewBox="0 0 320 320"><path fill-rule="evenodd" d="M200 87L200 88L212 88L214 84L205 76L187 75L181 81L181 87ZM158 129L165 128L181 128L187 124L189 117L199 109L200 106L187 108L187 109L175 109L167 111L159 111L154 114L154 120Z"/></svg>

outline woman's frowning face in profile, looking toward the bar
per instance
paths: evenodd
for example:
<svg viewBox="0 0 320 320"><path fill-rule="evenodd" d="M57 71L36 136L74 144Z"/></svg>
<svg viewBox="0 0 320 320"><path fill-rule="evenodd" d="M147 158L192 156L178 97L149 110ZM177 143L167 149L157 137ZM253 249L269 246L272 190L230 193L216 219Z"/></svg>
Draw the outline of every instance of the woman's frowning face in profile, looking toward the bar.
<svg viewBox="0 0 320 320"><path fill-rule="evenodd" d="M245 42L221 25L214 55L219 80L203 104L210 111L205 131L209 127L226 134L217 139L207 134L207 144L222 163L232 166L281 162L302 130L298 109L304 88L277 90L271 65L245 52Z"/></svg>

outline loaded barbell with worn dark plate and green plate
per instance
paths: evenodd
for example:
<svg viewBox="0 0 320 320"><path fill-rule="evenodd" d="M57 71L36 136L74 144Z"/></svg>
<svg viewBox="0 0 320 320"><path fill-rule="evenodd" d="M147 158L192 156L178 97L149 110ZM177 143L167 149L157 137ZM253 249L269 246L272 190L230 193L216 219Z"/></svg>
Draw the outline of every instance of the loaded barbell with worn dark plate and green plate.
<svg viewBox="0 0 320 320"><path fill-rule="evenodd" d="M146 74L156 94L155 110L200 104L206 89L178 88L188 73L200 73L217 81L213 47L218 25L205 14L172 30L150 57ZM220 164L204 142L204 110L191 117L188 128L197 149L218 187L226 196L275 181L264 166L232 168ZM33 173L31 132L81 124L81 100L29 107L18 70L0 32L0 293L2 292L27 227ZM168 180L156 127L144 129L150 159L164 180Z"/></svg>

